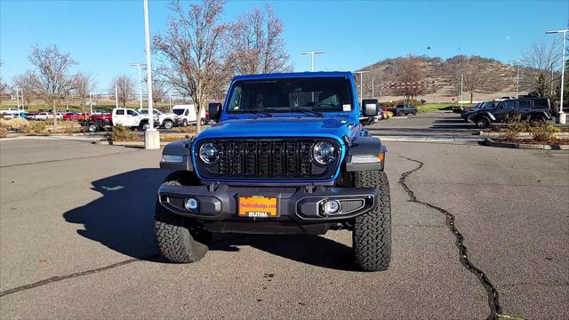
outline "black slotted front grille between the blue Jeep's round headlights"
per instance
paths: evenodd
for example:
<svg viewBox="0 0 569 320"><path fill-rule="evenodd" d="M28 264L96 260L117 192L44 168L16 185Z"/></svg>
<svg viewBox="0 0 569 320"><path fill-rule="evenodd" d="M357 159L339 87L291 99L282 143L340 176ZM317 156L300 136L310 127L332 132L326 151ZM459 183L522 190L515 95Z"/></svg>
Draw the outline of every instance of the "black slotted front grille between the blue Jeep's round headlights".
<svg viewBox="0 0 569 320"><path fill-rule="evenodd" d="M327 166L312 159L312 147L324 140L341 150L338 141L325 138L201 140L195 148L196 169L208 180L329 180L340 159ZM215 164L207 165L199 159L199 148L206 142L220 148Z"/></svg>

